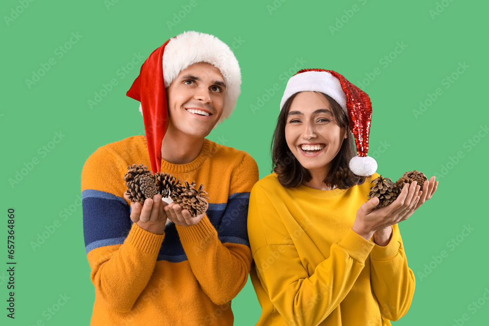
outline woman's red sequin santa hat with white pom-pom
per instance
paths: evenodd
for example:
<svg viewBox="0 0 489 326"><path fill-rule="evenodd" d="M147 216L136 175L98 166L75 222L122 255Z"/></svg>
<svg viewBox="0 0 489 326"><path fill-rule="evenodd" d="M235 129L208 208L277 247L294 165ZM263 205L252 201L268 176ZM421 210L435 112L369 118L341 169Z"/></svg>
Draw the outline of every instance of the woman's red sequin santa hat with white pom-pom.
<svg viewBox="0 0 489 326"><path fill-rule="evenodd" d="M280 109L290 96L303 91L316 91L331 96L348 114L358 154L350 160L350 170L356 175L374 174L377 171L377 162L373 157L367 156L372 120L372 103L367 93L333 70L302 69L290 77Z"/></svg>

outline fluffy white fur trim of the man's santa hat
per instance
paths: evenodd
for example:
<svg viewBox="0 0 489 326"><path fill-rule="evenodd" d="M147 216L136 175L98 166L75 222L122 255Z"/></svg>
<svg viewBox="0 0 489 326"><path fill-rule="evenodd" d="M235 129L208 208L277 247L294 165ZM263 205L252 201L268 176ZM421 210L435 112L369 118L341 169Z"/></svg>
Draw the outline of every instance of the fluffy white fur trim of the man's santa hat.
<svg viewBox="0 0 489 326"><path fill-rule="evenodd" d="M224 109L219 122L227 119L241 93L241 70L233 51L217 37L195 31L183 32L168 42L163 53L163 79L165 87L189 65L206 62L221 71L226 91Z"/></svg>

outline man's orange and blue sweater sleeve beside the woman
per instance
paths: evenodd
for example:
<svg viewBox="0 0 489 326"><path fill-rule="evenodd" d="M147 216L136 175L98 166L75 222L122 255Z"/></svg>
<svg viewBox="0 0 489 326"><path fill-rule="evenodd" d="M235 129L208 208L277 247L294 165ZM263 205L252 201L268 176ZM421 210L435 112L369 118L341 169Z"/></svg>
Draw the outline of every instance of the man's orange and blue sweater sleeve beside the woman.
<svg viewBox="0 0 489 326"><path fill-rule="evenodd" d="M249 192L256 181L256 162L245 154L231 176L230 196L220 226L216 229L207 215L196 225L176 226L192 272L215 304L231 301L248 279L251 250L246 219Z"/></svg>

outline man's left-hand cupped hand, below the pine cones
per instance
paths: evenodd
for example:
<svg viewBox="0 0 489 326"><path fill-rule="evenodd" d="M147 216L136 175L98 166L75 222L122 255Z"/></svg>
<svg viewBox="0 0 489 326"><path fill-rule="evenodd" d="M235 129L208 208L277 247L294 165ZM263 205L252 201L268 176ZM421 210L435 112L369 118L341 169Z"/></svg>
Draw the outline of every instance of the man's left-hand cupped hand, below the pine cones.
<svg viewBox="0 0 489 326"><path fill-rule="evenodd" d="M124 194L124 198L126 194ZM144 205L138 202L131 203L131 220L137 225L154 234L163 234L167 215L163 207L168 205L161 200L161 195L155 195L153 199L146 198Z"/></svg>

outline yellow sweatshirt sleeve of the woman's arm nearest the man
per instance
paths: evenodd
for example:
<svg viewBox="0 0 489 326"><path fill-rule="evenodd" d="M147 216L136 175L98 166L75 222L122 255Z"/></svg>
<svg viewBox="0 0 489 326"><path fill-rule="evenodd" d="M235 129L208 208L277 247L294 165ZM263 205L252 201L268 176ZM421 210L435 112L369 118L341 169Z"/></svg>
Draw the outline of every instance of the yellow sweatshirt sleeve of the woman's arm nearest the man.
<svg viewBox="0 0 489 326"><path fill-rule="evenodd" d="M374 244L349 230L330 256L309 275L273 201L253 188L248 212L257 275L270 301L289 325L318 325L343 301ZM277 240L283 239L283 240Z"/></svg>

